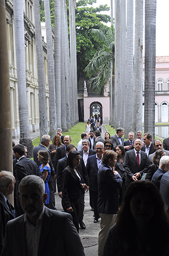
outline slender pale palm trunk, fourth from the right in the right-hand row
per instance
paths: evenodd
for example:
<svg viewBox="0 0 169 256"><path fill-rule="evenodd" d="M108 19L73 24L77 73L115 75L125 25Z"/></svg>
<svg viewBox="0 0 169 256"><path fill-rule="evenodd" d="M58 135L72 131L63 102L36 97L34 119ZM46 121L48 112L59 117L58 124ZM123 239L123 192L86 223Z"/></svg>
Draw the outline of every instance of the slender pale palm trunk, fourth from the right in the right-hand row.
<svg viewBox="0 0 169 256"><path fill-rule="evenodd" d="M120 104L120 126L125 124L125 87L126 87L126 4L121 0L121 104Z"/></svg>

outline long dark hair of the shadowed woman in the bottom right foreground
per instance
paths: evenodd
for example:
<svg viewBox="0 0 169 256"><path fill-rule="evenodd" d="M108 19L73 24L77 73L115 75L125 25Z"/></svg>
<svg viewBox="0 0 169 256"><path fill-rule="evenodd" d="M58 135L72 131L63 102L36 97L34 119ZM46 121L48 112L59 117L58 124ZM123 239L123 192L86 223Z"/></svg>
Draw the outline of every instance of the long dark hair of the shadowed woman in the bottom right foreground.
<svg viewBox="0 0 169 256"><path fill-rule="evenodd" d="M129 238L129 234L133 238L136 233L135 220L130 211L130 201L136 193L140 192L147 193L150 196L155 208L154 215L151 220L149 220L147 232L150 232L151 236L154 237L153 239L157 240L160 237L157 235L158 232L162 235L163 232L165 233L166 229L167 231L169 230L168 214L164 210L164 203L159 189L152 182L146 180L131 182L125 191L123 203L117 214L117 223L115 224L115 229L118 234L122 235L122 237L125 240L128 240L128 242L130 242L131 239L131 237ZM147 237L149 238L149 235Z"/></svg>

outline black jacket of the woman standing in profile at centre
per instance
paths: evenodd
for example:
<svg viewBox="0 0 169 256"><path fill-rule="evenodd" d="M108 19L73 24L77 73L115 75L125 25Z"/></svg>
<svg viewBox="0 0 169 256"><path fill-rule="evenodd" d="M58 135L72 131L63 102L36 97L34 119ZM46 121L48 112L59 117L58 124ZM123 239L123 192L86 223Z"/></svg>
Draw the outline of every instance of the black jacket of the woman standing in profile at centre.
<svg viewBox="0 0 169 256"><path fill-rule="evenodd" d="M78 174L80 175L79 172ZM62 173L62 204L64 204L66 208L71 207L71 203L77 203L80 197L81 183L75 170L67 166Z"/></svg>

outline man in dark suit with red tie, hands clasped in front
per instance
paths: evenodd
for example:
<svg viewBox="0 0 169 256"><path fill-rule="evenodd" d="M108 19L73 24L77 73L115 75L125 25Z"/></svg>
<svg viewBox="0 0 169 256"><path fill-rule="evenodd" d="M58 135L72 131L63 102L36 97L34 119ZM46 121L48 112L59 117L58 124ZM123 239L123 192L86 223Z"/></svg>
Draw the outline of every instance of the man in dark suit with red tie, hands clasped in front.
<svg viewBox="0 0 169 256"><path fill-rule="evenodd" d="M149 159L147 154L141 151L141 146L141 140L135 139L134 149L127 151L125 154L126 186L133 180L141 179L142 174L146 173L149 167Z"/></svg>

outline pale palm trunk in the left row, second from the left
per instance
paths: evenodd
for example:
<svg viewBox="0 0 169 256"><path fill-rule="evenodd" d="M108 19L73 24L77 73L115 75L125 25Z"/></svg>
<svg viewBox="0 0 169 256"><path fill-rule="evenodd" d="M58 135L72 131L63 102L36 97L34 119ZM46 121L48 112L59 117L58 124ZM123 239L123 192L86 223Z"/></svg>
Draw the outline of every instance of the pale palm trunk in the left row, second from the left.
<svg viewBox="0 0 169 256"><path fill-rule="evenodd" d="M34 0L34 18L35 18L35 41L38 67L38 87L39 87L39 126L40 137L47 134L47 113L46 113L46 92L45 92L45 74L43 43L41 37L39 1Z"/></svg>

